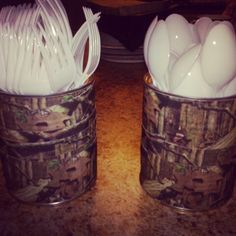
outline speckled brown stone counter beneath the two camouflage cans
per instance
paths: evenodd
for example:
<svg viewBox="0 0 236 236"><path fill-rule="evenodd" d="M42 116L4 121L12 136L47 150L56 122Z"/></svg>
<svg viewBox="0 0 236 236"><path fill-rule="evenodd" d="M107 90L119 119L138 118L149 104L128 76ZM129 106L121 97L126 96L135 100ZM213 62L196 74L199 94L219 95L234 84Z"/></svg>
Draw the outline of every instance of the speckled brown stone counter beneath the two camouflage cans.
<svg viewBox="0 0 236 236"><path fill-rule="evenodd" d="M236 235L236 191L219 209L182 214L139 183L143 64L101 62L96 71L98 176L86 194L57 207L9 196L0 167L0 235Z"/></svg>

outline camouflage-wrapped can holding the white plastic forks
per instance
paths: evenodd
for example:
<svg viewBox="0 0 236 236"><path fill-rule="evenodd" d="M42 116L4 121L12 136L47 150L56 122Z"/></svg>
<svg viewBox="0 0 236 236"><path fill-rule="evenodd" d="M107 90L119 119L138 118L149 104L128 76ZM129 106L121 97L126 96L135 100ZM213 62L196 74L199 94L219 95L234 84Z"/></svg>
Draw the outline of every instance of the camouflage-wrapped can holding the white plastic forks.
<svg viewBox="0 0 236 236"><path fill-rule="evenodd" d="M96 180L94 83L49 96L0 93L1 156L16 199L59 204Z"/></svg>

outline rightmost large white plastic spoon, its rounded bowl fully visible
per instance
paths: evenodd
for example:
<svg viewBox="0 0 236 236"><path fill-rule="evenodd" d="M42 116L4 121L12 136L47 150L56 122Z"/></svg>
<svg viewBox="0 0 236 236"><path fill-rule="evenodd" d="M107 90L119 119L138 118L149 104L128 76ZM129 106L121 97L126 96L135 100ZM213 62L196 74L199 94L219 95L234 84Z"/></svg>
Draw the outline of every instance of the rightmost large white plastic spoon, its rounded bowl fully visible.
<svg viewBox="0 0 236 236"><path fill-rule="evenodd" d="M235 32L226 24L215 25L208 33L200 55L206 82L219 90L236 74Z"/></svg>

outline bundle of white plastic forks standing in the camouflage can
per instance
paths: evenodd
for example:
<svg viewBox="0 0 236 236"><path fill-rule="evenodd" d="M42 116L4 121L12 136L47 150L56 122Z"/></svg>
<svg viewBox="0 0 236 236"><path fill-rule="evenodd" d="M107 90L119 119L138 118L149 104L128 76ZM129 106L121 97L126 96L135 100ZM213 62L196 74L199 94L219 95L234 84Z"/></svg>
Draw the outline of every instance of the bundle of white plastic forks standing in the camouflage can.
<svg viewBox="0 0 236 236"><path fill-rule="evenodd" d="M100 13L86 7L83 12L86 21L73 36L60 0L2 8L0 89L10 94L49 95L83 86L101 55ZM86 43L89 53L84 60Z"/></svg>

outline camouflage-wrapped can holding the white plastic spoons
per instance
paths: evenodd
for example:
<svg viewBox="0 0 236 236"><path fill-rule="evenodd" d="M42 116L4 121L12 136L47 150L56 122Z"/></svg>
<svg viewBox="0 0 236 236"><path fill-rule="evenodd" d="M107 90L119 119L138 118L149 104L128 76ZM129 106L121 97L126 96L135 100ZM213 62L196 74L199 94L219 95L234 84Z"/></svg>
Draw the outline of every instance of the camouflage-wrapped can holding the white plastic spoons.
<svg viewBox="0 0 236 236"><path fill-rule="evenodd" d="M232 195L236 96L193 99L164 93L145 76L140 182L161 203L208 210Z"/></svg>

